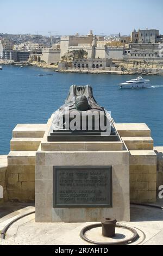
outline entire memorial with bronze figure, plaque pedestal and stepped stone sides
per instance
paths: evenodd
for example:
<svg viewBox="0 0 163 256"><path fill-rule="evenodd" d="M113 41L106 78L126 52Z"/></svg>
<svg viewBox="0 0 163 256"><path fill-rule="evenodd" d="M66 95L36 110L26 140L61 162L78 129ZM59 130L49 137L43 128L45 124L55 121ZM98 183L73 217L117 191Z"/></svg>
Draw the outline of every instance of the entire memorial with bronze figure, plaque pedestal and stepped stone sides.
<svg viewBox="0 0 163 256"><path fill-rule="evenodd" d="M74 89L77 95L81 90L92 94L90 87L72 86L66 104L74 101ZM70 104L72 109L76 103L81 105L83 97L77 99ZM98 113L104 111L93 96L89 96L89 104ZM109 119L107 127L111 130L105 137L101 129L95 132L92 128L90 132L82 127L82 132L73 132L69 126L61 129L61 115L64 125L67 120L64 108L52 114L47 124L15 127L11 151L5 163L0 159L0 186L4 191L0 204L35 200L36 222L96 222L102 218L129 221L130 203L155 202L162 184L163 150L153 147L147 125L115 124ZM96 114L94 119L98 118Z"/></svg>

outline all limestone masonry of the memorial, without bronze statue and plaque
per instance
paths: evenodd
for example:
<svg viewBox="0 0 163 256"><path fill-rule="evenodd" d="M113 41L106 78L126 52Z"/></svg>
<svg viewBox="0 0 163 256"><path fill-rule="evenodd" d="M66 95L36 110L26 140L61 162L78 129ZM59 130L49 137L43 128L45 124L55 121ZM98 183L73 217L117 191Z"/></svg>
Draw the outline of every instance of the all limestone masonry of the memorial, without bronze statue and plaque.
<svg viewBox="0 0 163 256"><path fill-rule="evenodd" d="M15 127L11 151L0 157L0 185L4 189L1 204L7 200L34 202L36 197L36 221L72 221L73 209L65 215L52 207L52 169L55 165L76 166L83 159L83 166L113 166L113 208L108 213L117 220L129 220L129 202L155 202L156 190L163 182L163 147L153 148L151 130L146 124L115 123L120 142L47 142L52 120L53 115L47 124ZM75 211L76 221L90 220L91 209ZM95 212L91 218L94 221L105 214L104 209Z"/></svg>

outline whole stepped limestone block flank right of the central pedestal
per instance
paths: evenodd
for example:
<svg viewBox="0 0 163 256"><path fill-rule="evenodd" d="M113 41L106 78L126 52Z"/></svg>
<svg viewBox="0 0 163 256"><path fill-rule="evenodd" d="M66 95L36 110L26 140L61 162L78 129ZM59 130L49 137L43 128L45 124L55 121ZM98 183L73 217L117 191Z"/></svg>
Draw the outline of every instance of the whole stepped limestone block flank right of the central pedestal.
<svg viewBox="0 0 163 256"><path fill-rule="evenodd" d="M116 124L130 152L130 203L156 201L156 154L146 124Z"/></svg>

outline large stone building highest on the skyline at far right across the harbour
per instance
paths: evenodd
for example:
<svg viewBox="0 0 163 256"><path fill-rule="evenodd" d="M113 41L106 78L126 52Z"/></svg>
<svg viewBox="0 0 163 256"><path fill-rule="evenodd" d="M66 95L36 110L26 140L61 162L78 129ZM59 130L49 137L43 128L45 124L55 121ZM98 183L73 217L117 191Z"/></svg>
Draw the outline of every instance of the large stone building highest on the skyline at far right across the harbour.
<svg viewBox="0 0 163 256"><path fill-rule="evenodd" d="M147 44L152 43L155 44L157 39L159 38L159 30L157 29L139 29L139 31L134 31L131 33L131 42L133 44Z"/></svg>

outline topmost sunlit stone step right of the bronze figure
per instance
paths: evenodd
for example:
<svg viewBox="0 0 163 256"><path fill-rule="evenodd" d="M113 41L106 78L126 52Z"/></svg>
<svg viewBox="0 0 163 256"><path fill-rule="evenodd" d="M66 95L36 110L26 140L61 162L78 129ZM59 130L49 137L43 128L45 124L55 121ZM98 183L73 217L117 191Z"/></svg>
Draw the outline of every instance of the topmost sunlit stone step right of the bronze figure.
<svg viewBox="0 0 163 256"><path fill-rule="evenodd" d="M146 124L114 124L121 137L150 137L151 130Z"/></svg>

